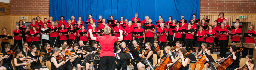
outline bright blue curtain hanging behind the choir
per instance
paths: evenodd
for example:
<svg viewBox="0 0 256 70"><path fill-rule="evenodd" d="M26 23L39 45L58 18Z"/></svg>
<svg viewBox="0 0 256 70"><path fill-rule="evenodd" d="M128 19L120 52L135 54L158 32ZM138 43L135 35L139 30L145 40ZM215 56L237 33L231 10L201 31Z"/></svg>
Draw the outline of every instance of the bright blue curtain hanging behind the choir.
<svg viewBox="0 0 256 70"><path fill-rule="evenodd" d="M60 20L60 16L66 21L71 16L75 16L75 20L81 16L86 21L89 14L95 21L99 20L99 15L105 19L113 15L118 20L123 16L130 21L135 13L139 14L141 22L148 15L154 25L159 15L164 21L168 21L169 16L172 20L181 20L181 15L189 21L196 13L196 18L200 19L200 0L50 0L49 8L49 16L53 16L54 21Z"/></svg>

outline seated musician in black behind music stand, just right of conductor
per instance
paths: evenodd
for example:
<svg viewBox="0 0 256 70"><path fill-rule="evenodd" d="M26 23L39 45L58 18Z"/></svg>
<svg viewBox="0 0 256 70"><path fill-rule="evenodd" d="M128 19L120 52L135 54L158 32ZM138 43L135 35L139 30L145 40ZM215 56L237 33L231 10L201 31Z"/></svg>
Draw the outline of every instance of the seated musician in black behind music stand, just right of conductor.
<svg viewBox="0 0 256 70"><path fill-rule="evenodd" d="M122 49L118 50L117 53L123 53L124 52L123 49L125 49L125 47L126 47L125 42L121 43L121 47L122 47ZM129 53L129 51L127 53ZM125 70L127 65L129 65L129 59L119 59L117 64L115 64L115 67L117 68L117 70L120 70L121 66L122 66L122 70Z"/></svg>

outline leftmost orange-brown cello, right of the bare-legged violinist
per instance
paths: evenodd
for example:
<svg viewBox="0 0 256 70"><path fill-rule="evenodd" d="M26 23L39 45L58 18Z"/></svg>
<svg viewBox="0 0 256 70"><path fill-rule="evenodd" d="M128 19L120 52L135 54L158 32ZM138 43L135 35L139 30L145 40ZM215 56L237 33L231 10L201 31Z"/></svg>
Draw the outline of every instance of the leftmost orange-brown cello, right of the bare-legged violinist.
<svg viewBox="0 0 256 70"><path fill-rule="evenodd" d="M175 46L171 51L175 50L177 46ZM167 64L172 62L172 59L168 57L170 53L168 53L160 62L159 66L155 70L166 70ZM172 54L172 53L171 53Z"/></svg>

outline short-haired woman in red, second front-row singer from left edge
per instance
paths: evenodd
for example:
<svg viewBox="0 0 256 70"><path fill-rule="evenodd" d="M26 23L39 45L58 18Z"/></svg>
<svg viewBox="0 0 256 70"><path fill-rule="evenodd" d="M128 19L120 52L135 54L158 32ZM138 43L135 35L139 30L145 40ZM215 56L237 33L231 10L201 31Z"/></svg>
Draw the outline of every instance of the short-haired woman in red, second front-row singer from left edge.
<svg viewBox="0 0 256 70"><path fill-rule="evenodd" d="M22 48L21 30L19 29L19 25L16 25L15 28L16 29L13 30L13 36L14 36L14 33L19 33L19 34L17 36L14 36L14 44L18 44L18 47Z"/></svg>

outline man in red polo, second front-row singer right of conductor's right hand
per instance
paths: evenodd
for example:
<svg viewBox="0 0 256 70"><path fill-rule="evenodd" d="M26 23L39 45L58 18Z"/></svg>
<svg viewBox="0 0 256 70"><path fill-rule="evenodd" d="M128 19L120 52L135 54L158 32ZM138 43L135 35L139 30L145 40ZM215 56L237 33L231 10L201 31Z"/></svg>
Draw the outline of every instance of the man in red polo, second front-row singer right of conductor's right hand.
<svg viewBox="0 0 256 70"><path fill-rule="evenodd" d="M139 43L140 46L142 46L142 43L145 43L145 32L144 29L141 28L141 23L137 23L138 28L134 29L133 32L143 32L143 36L140 34L133 34L134 40Z"/></svg>

